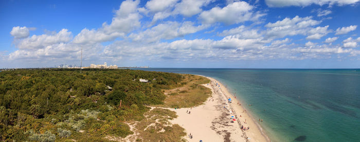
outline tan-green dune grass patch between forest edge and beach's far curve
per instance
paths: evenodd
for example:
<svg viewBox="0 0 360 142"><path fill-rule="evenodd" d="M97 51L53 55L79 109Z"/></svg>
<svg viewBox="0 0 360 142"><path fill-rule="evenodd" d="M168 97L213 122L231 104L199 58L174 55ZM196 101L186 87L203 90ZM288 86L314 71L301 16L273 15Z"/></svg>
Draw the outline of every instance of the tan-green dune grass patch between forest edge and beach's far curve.
<svg viewBox="0 0 360 142"><path fill-rule="evenodd" d="M164 104L156 105L169 108L189 108L202 105L211 95L211 90L202 84L210 80L203 76L184 74L181 87L164 90L167 97Z"/></svg>

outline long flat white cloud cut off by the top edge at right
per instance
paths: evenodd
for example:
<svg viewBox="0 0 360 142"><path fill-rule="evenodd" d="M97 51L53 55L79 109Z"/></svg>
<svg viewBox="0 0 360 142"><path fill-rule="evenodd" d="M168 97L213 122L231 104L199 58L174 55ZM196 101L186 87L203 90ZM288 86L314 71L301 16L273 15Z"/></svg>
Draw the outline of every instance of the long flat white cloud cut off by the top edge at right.
<svg viewBox="0 0 360 142"><path fill-rule="evenodd" d="M359 0L265 0L268 7L287 7L287 6L310 6L315 5L351 5L359 2Z"/></svg>

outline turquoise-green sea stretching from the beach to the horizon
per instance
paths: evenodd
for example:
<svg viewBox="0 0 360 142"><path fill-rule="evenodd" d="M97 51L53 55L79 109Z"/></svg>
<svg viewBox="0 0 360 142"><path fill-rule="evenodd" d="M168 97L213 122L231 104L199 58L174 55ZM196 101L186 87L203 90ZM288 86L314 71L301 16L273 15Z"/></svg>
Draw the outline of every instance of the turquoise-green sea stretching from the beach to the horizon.
<svg viewBox="0 0 360 142"><path fill-rule="evenodd" d="M360 141L359 69L174 69L222 82L272 141ZM248 105L251 104L251 107Z"/></svg>

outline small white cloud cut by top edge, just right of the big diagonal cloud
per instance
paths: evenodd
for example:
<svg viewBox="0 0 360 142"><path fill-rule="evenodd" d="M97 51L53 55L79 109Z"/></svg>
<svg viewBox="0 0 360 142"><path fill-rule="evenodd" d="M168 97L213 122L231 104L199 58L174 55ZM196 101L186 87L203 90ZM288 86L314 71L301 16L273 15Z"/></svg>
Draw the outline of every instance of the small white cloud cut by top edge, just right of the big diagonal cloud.
<svg viewBox="0 0 360 142"><path fill-rule="evenodd" d="M145 7L152 12L159 12L174 6L177 1L178 0L151 0L146 3Z"/></svg>

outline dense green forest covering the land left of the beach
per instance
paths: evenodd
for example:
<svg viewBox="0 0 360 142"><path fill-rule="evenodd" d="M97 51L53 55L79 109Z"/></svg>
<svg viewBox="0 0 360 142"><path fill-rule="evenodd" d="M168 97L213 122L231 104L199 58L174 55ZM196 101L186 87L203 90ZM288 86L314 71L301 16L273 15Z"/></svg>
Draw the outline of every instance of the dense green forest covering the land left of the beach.
<svg viewBox="0 0 360 142"><path fill-rule="evenodd" d="M149 83L141 83L139 79ZM149 105L182 74L129 69L16 69L0 72L0 141L108 141L133 132Z"/></svg>

